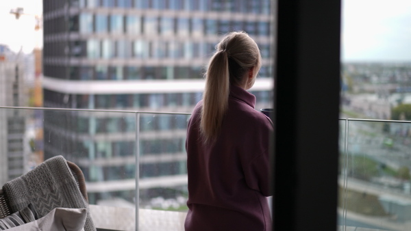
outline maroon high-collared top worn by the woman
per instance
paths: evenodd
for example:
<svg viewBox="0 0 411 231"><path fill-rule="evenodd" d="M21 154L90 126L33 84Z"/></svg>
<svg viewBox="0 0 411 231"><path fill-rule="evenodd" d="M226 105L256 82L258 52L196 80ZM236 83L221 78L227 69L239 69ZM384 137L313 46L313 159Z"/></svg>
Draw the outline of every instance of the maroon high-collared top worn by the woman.
<svg viewBox="0 0 411 231"><path fill-rule="evenodd" d="M228 110L213 145L200 137L200 101L188 122L186 231L271 230L271 120L254 109L256 97L230 86Z"/></svg>

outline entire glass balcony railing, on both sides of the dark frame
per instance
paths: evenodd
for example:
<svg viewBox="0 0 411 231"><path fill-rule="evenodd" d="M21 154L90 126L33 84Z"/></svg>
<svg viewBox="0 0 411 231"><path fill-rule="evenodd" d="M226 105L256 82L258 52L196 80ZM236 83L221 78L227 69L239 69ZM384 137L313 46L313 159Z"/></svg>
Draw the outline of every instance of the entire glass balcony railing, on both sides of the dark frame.
<svg viewBox="0 0 411 231"><path fill-rule="evenodd" d="M188 118L0 107L0 185L62 155L84 173L97 228L184 230ZM340 119L338 230L411 230L410 145L411 122Z"/></svg>

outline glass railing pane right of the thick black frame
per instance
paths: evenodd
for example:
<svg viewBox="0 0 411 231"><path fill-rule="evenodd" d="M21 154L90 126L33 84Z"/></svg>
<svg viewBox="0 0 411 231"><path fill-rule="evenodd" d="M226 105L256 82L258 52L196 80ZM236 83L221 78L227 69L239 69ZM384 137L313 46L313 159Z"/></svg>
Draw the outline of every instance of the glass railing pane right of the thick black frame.
<svg viewBox="0 0 411 231"><path fill-rule="evenodd" d="M410 131L406 122L348 121L347 156L341 160L346 174L346 187L340 188L345 208L341 223L379 230L410 228Z"/></svg>

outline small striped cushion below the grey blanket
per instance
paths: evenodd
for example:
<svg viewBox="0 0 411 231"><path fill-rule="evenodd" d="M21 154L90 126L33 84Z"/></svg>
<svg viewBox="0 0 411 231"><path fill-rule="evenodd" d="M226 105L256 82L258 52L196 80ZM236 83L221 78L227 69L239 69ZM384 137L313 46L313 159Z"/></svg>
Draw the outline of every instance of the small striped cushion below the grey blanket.
<svg viewBox="0 0 411 231"><path fill-rule="evenodd" d="M35 221L38 219L38 215L36 210L32 204L29 204L27 207L19 210L12 215L8 215L7 217L3 217L0 219L0 230L7 230L9 228L13 228L16 226L21 226L25 223L29 223L31 221Z"/></svg>

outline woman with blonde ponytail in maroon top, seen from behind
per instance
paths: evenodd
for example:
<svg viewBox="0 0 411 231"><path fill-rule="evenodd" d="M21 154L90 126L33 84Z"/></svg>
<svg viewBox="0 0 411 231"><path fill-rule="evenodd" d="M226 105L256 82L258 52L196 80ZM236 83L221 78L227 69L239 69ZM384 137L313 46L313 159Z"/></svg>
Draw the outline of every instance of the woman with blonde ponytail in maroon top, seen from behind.
<svg viewBox="0 0 411 231"><path fill-rule="evenodd" d="M256 42L245 32L216 46L206 88L188 122L186 231L271 230L271 120L247 92L261 67Z"/></svg>

